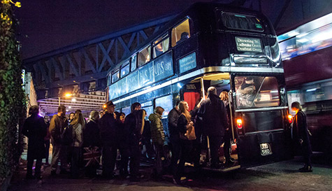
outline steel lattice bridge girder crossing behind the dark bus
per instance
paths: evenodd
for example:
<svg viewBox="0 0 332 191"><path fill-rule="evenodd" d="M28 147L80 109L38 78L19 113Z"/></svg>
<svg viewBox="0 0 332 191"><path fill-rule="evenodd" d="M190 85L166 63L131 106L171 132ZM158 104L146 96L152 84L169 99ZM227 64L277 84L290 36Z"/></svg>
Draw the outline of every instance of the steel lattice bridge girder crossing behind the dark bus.
<svg viewBox="0 0 332 191"><path fill-rule="evenodd" d="M132 50L173 17L172 15L144 22L113 34L38 55L24 60L24 66L33 72L36 90L49 90L48 97L57 97L58 95L53 95L52 92L61 92L64 86L93 81L96 81L97 85L103 85L96 89L105 90L106 83L99 80L106 80L108 69L130 55ZM148 34L145 29L149 31ZM51 90L53 88L58 88L59 91Z"/></svg>

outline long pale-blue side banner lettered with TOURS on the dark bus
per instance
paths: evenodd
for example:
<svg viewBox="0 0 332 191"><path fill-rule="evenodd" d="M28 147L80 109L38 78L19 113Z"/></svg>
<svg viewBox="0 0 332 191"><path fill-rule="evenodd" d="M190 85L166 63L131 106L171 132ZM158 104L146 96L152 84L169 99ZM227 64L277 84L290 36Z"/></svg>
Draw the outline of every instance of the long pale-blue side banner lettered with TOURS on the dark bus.
<svg viewBox="0 0 332 191"><path fill-rule="evenodd" d="M153 62L145 64L143 67L130 73L110 85L109 99L115 99L124 94L138 90L140 87L150 85L164 78L174 75L172 52L155 59Z"/></svg>

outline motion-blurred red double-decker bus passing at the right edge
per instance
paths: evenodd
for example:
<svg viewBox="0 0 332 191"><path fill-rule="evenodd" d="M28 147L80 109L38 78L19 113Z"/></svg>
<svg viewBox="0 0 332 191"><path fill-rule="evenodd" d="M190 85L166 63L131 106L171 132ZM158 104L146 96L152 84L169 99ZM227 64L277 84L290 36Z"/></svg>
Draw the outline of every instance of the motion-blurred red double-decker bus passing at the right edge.
<svg viewBox="0 0 332 191"><path fill-rule="evenodd" d="M307 115L312 150L332 157L332 13L278 36L289 104ZM294 113L291 113L294 115ZM327 159L328 157L326 157Z"/></svg>

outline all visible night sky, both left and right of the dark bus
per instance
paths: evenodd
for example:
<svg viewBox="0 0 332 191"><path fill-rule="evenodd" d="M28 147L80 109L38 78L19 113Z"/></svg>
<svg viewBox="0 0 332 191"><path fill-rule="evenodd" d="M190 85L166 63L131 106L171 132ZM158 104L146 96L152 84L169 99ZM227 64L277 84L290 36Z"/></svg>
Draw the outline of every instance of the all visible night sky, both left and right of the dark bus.
<svg viewBox="0 0 332 191"><path fill-rule="evenodd" d="M14 8L20 24L22 59L41 55L66 45L110 34L119 29L140 24L165 15L180 13L197 1L212 0L20 0L21 8ZM219 0L222 3L242 0ZM284 16L276 30L284 30L319 16L331 13L331 0L253 0L260 2L262 12L274 23L284 4Z"/></svg>

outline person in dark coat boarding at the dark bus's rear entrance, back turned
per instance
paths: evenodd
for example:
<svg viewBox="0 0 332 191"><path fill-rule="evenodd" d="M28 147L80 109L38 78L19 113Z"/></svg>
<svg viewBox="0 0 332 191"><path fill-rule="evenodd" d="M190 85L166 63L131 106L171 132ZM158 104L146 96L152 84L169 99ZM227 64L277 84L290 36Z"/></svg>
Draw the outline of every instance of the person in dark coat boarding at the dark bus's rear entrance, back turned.
<svg viewBox="0 0 332 191"><path fill-rule="evenodd" d="M203 119L203 134L210 140L211 167L219 168L218 150L223 142L227 118L224 103L217 96L215 87L208 88L208 99L201 102L198 115Z"/></svg>

